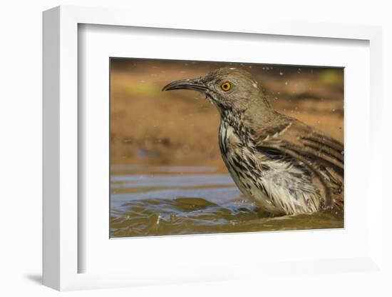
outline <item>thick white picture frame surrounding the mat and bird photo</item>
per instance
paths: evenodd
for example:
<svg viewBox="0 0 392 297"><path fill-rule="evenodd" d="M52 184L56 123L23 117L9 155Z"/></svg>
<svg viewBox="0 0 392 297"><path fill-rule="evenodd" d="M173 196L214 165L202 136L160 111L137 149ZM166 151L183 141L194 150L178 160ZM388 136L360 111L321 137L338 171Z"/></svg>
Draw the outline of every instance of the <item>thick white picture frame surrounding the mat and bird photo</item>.
<svg viewBox="0 0 392 297"><path fill-rule="evenodd" d="M349 273L368 273L374 277L386 276L382 258L382 198L381 193L381 28L346 24L306 24L282 23L271 21L246 22L232 24L231 21L206 19L200 23L197 18L187 17L167 24L165 16L155 15L152 19L133 15L130 11L119 9L92 9L76 6L59 6L43 13L43 283L57 290L76 290L85 288L113 288L120 286L138 286L142 284L182 283L192 281L227 281L230 279L263 277L273 281L276 276L292 277L293 273L306 276L309 273L331 273L343 275ZM370 131L368 152L369 193L372 200L368 207L366 226L368 227L368 246L349 257L342 254L333 258L292 258L287 263L265 259L254 263L244 260L230 266L210 266L204 263L190 263L189 266L165 268L165 273L143 271L143 263L130 271L108 269L108 271L89 272L83 268L86 249L81 248L86 232L81 231L83 208L79 196L83 195L80 163L81 152L80 125L83 113L78 105L81 96L80 51L78 51L78 27L81 24L124 27L148 27L175 30L197 30L203 32L237 32L237 34L263 34L265 36L296 36L313 39L356 39L368 41L370 49ZM175 25L173 25L175 24ZM113 29L113 28L112 28ZM186 35L186 34L185 34ZM80 49L79 49L80 50ZM147 57L147 56L146 56ZM151 57L151 56L149 56ZM184 58L185 59L185 58ZM80 70L80 69L79 69ZM93 227L94 228L94 227ZM96 227L97 228L97 227ZM91 230L88 230L89 234ZM286 233L287 236L289 233ZM325 233L324 233L325 234ZM170 248L170 245L195 245L192 238L205 238L214 245L229 243L229 236L187 236L167 238L143 238L142 240ZM108 238L109 241L109 238ZM115 245L124 245L125 241L115 241ZM231 243L230 243L231 244ZM100 248L100 247L98 247ZM142 250L143 251L143 250ZM191 265L192 264L192 265ZM162 264L163 265L163 264ZM180 268L180 270L178 269ZM94 269L93 269L94 270ZM109 272L110 271L110 272ZM244 273L244 271L247 271ZM282 271L285 271L282 273ZM324 278L326 276L323 276ZM332 277L332 276L327 276ZM354 278L347 278L353 281Z"/></svg>

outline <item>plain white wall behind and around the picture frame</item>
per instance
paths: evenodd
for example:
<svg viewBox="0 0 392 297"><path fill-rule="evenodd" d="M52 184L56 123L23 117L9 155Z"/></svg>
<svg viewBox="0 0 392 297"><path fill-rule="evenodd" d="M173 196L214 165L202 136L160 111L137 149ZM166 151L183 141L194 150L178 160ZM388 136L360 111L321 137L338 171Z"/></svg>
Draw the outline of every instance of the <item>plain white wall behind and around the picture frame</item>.
<svg viewBox="0 0 392 297"><path fill-rule="evenodd" d="M132 4L134 2L134 4ZM389 112L392 109L390 84L392 59L392 21L389 1L2 1L0 6L0 185L1 185L1 244L0 244L0 294L1 296L52 296L56 291L40 286L41 281L41 11L57 5L128 7L145 14L156 9L172 9L175 3L187 14L204 17L227 17L235 21L237 16L279 19L305 19L309 21L383 26L383 94L384 123L391 129ZM180 10L179 8L176 8ZM130 16L131 17L131 16ZM389 100L387 100L389 99ZM5 105L4 105L5 103ZM386 119L387 118L387 119ZM384 135L385 155L390 150L391 131ZM388 141L388 142L387 142ZM386 156L391 166L391 157ZM360 168L360 166L359 166ZM387 164L384 172L387 172ZM386 176L386 175L385 175ZM391 177L389 174L388 178ZM390 181L389 181L390 182ZM390 193L391 191L389 191ZM391 196L391 195L389 195ZM387 202L384 208L391 208ZM388 219L389 223L391 220ZM389 246L389 250L392 248ZM389 258L390 259L390 258ZM309 278L311 281L311 278ZM340 284L342 285L342 283ZM383 296L386 292L360 283L356 288L336 288L326 284L318 296L331 296L346 292ZM224 290L225 293L222 293ZM289 293L282 284L277 294ZM377 293L376 293L377 292ZM68 293L71 296L105 296L106 294L132 294L133 296L241 296L261 293L257 283L213 283L154 288L130 288L115 291L84 291ZM298 293L298 292L297 292ZM302 296L311 294L304 291ZM390 293L390 292L389 292ZM259 295L259 294L257 294Z"/></svg>

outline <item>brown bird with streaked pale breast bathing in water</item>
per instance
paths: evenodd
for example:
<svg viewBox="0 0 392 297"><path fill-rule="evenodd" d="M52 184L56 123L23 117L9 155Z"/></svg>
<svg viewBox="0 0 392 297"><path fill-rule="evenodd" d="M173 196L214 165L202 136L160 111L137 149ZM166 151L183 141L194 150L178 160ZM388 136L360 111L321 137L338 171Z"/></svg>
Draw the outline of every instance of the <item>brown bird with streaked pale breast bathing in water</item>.
<svg viewBox="0 0 392 297"><path fill-rule="evenodd" d="M205 94L220 114L222 159L239 190L272 216L344 208L344 145L275 111L252 74L224 67L163 91Z"/></svg>

